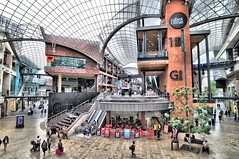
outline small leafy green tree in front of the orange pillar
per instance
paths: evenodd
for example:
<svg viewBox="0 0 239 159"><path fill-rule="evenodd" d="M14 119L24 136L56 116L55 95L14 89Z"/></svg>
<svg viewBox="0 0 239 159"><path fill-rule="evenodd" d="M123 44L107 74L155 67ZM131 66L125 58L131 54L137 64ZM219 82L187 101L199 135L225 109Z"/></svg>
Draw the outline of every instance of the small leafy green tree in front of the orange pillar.
<svg viewBox="0 0 239 159"><path fill-rule="evenodd" d="M197 97L200 97L199 103L200 107L195 108L196 118L193 116L193 106L190 106L190 96L196 94ZM208 116L207 109L205 104L205 98L202 95L199 95L199 91L195 88L190 88L187 86L181 86L178 88L173 88L173 94L175 101L170 105L172 112L171 124L173 128L184 130L184 132L189 134L189 139L191 133L206 133L209 134L210 128L208 127ZM202 103L202 104L201 104ZM185 120L183 117L185 114ZM198 120L198 125L195 125L195 119ZM190 149L191 149L191 140L189 140Z"/></svg>

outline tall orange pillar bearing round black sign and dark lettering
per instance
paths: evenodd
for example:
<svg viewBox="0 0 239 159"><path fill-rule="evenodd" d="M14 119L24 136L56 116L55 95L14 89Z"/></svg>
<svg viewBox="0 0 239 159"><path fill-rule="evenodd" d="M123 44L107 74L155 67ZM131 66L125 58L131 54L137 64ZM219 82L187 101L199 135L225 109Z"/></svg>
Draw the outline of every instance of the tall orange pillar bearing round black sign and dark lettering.
<svg viewBox="0 0 239 159"><path fill-rule="evenodd" d="M168 26L168 68L162 76L166 78L165 84L167 85L167 91L170 93L170 99L174 100L172 97L173 87L184 85L192 87L189 6L184 5L184 0L171 0L170 3L166 3L165 23ZM184 40L184 50L181 40ZM185 59L184 53L186 55ZM184 70L184 65L187 68L186 70Z"/></svg>

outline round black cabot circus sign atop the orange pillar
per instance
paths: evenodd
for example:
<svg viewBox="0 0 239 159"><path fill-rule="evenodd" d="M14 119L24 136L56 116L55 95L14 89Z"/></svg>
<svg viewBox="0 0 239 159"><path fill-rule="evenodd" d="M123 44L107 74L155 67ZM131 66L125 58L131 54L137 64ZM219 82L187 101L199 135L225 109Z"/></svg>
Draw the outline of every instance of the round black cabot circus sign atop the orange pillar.
<svg viewBox="0 0 239 159"><path fill-rule="evenodd" d="M187 16L184 13L176 12L169 19L170 25L175 29L181 29L187 24Z"/></svg>

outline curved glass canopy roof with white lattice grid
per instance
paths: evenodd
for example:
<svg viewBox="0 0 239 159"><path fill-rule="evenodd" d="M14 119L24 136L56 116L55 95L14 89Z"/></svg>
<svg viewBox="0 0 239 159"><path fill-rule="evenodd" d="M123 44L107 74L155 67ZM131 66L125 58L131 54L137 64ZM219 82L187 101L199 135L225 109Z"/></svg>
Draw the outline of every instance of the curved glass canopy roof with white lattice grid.
<svg viewBox="0 0 239 159"><path fill-rule="evenodd" d="M205 22L191 30L210 29L210 50L221 46L233 27L230 24L235 25L237 19L220 18L238 13L238 0L191 0L190 3L190 25ZM0 31L8 33L6 38L12 40L22 62L43 68L46 34L72 38L76 44L82 40L97 41L102 47L118 30L109 40L104 55L126 66L137 61L137 21L133 19L148 15L154 19L145 20L145 25L159 25L160 20L155 17L160 17L160 5L161 0L1 0ZM217 17L220 18L210 22ZM88 50L83 53L89 54ZM101 50L95 54L101 54Z"/></svg>

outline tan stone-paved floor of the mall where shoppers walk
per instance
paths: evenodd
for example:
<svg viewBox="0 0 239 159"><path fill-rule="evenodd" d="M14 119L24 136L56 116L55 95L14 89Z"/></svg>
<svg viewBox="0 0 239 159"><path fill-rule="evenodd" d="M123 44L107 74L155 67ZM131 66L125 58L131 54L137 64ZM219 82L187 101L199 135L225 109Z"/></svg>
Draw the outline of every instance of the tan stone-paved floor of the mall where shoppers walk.
<svg viewBox="0 0 239 159"><path fill-rule="evenodd" d="M19 112L21 113L21 112ZM42 152L30 152L30 141L40 135L46 139L44 123L46 116L41 116L40 110L34 109L34 115L25 113L25 127L16 129L16 113L0 120L0 138L5 135L10 138L7 151L0 147L1 159L40 159L44 158ZM90 138L72 135L63 140L65 152L61 156L55 155L58 138L54 136L54 144L45 158L49 159L127 159L131 158L129 146L136 141L136 155L138 159L238 159L239 158L239 122L233 117L224 120L212 127L211 135L206 136L209 141L210 154L195 154L188 151L172 151L169 147L170 134L162 134L161 140L147 139L115 139L93 136ZM180 134L180 145L184 134ZM196 135L200 137L200 135ZM193 144L193 146L201 147Z"/></svg>

